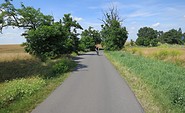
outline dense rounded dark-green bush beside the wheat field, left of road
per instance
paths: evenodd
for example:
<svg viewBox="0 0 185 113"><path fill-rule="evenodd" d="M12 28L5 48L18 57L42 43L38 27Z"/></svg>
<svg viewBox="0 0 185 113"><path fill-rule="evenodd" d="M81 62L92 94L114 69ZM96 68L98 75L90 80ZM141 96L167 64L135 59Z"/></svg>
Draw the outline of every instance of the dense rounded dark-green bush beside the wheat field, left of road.
<svg viewBox="0 0 185 113"><path fill-rule="evenodd" d="M25 50L42 61L56 58L68 50L66 34L61 24L40 26L36 30L28 31L25 38Z"/></svg>

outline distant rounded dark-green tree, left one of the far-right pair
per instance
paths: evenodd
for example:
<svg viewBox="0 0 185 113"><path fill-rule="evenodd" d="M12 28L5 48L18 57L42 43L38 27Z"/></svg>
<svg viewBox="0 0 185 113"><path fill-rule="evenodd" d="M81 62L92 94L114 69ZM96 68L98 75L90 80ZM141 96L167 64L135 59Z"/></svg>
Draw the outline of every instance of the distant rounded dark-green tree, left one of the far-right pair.
<svg viewBox="0 0 185 113"><path fill-rule="evenodd" d="M143 27L138 30L136 44L140 46L157 46L158 32L150 27Z"/></svg>

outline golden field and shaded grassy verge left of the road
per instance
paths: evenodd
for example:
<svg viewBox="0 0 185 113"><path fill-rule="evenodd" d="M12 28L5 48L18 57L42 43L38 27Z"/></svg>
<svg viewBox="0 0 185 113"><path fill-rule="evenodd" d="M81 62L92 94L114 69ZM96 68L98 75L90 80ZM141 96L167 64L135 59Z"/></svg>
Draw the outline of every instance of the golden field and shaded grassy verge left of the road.
<svg viewBox="0 0 185 113"><path fill-rule="evenodd" d="M63 64L67 70L63 70ZM0 113L30 112L74 66L67 58L43 63L20 45L0 45Z"/></svg>

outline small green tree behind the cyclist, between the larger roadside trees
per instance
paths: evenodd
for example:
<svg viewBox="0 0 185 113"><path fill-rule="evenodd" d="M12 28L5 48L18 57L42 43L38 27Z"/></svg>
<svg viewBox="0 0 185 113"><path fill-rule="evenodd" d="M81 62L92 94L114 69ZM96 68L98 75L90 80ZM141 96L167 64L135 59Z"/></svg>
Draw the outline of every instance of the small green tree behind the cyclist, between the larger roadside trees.
<svg viewBox="0 0 185 113"><path fill-rule="evenodd" d="M81 50L94 50L96 44L101 43L100 33L97 30L93 30L92 27L84 30L81 34L80 48Z"/></svg>

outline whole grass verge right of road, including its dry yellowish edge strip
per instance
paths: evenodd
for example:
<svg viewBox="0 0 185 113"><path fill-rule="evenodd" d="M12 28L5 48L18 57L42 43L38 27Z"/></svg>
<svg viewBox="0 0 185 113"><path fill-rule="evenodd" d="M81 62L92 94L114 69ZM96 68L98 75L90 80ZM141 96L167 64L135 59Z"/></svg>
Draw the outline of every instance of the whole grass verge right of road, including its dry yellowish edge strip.
<svg viewBox="0 0 185 113"><path fill-rule="evenodd" d="M127 52L106 52L148 113L185 112L185 70Z"/></svg>

